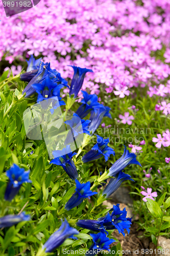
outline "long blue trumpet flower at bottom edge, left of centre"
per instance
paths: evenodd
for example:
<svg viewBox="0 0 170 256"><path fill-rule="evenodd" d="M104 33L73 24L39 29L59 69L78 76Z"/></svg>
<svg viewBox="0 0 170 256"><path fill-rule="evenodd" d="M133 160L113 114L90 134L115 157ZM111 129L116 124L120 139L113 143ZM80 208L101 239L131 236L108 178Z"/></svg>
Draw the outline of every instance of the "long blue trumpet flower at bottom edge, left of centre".
<svg viewBox="0 0 170 256"><path fill-rule="evenodd" d="M70 227L65 219L60 228L52 234L42 248L45 249L45 252L52 252L64 243L67 238L77 239L74 237L75 234L79 234L79 231L76 228Z"/></svg>

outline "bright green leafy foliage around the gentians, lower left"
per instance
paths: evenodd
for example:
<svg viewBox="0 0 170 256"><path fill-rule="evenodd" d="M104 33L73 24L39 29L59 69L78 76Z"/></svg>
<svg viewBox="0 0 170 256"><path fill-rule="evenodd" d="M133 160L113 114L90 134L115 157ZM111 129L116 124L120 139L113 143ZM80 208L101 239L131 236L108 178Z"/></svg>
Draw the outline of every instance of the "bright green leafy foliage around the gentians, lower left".
<svg viewBox="0 0 170 256"><path fill-rule="evenodd" d="M60 227L61 219L66 218L72 227L76 227L80 218L97 219L105 216L109 210L102 204L106 199L101 193L93 196L91 202L86 199L79 207L69 211L64 209L65 203L75 192L76 183L68 177L62 167L50 164L51 159L48 157L43 140L27 138L23 112L36 103L36 98L32 96L26 99L21 94L25 86L26 84L20 81L19 75L13 77L11 74L7 78L7 72L5 72L0 78L0 217L17 215L23 210L31 215L31 221L20 222L0 230L1 256L47 255L42 250L42 244ZM71 113L70 107L74 101L72 98L67 98L68 114ZM91 189L97 191L98 185L108 177L108 171L104 172L105 167L103 167L104 174L100 176L93 164L82 164L81 156L82 153L84 154L84 147L91 144L94 143L91 143L90 137L86 136L74 161L79 172L79 180L93 182ZM32 151L34 153L30 154ZM4 200L8 183L5 172L13 163L25 170L31 170L32 183L23 183L15 198L7 202ZM77 229L80 231L78 240L67 239L54 253L48 254L64 255L62 252L64 248L73 251L88 250L92 244L90 231L80 227ZM111 233L109 237L112 237Z"/></svg>

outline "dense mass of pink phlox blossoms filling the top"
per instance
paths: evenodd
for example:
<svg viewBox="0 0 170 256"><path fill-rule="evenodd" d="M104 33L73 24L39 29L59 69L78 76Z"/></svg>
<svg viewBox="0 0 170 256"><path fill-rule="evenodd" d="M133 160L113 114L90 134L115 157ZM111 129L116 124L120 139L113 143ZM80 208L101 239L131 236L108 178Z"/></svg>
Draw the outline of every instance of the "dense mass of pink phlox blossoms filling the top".
<svg viewBox="0 0 170 256"><path fill-rule="evenodd" d="M73 74L67 65L92 68L82 87L91 94L105 85L123 98L149 84L151 97L164 97L170 90L170 80L163 85L170 74L169 13L169 0L41 0L6 17L0 2L0 59L42 55L63 78ZM165 63L151 56L162 45Z"/></svg>

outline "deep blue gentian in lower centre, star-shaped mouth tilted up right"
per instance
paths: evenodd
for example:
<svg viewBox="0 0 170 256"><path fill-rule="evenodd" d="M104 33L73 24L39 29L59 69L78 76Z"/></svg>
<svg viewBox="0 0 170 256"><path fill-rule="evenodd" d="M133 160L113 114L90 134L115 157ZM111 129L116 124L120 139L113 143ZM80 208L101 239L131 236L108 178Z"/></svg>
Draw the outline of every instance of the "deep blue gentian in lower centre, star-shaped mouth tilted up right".
<svg viewBox="0 0 170 256"><path fill-rule="evenodd" d="M95 194L98 194L97 192L92 192L90 190L90 182L86 183L80 183L78 180L76 181L76 193L72 195L72 197L68 200L68 202L65 205L66 210L70 210L79 204L83 202L85 198L89 198L90 196L93 196Z"/></svg>

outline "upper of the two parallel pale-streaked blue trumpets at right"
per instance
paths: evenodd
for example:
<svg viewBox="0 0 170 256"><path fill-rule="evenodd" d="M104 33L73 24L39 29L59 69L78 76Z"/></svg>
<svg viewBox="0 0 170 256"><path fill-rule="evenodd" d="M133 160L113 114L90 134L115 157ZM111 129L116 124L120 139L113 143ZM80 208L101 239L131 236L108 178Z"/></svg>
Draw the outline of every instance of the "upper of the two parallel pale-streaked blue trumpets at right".
<svg viewBox="0 0 170 256"><path fill-rule="evenodd" d="M125 145L124 145L125 146ZM125 146L124 154L109 169L109 176L115 176L121 170L124 170L129 164L141 164L136 160L134 153L129 153Z"/></svg>

